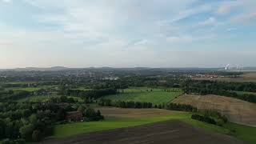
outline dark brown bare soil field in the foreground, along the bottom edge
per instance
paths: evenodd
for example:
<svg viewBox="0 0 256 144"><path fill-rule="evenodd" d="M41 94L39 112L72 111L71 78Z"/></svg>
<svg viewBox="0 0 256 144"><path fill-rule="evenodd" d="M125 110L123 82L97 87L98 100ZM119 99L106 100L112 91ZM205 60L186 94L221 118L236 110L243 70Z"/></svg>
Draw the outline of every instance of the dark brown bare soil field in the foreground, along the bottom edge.
<svg viewBox="0 0 256 144"><path fill-rule="evenodd" d="M179 121L158 122L103 132L81 134L72 138L49 139L42 143L61 144L236 144L242 143L227 135L214 134Z"/></svg>

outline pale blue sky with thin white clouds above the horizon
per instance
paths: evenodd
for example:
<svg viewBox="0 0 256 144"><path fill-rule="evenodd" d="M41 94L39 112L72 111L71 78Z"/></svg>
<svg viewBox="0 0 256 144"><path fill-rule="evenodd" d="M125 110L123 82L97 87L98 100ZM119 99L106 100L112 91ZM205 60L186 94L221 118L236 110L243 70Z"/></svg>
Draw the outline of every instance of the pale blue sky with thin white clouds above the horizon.
<svg viewBox="0 0 256 144"><path fill-rule="evenodd" d="M0 0L0 69L256 66L256 0Z"/></svg>

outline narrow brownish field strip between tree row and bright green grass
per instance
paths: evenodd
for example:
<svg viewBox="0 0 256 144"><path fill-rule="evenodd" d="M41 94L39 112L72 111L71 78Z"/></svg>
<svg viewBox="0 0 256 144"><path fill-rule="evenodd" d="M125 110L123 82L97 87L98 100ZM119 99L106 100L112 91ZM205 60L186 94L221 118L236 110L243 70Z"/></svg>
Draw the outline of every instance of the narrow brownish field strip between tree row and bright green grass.
<svg viewBox="0 0 256 144"><path fill-rule="evenodd" d="M155 116L176 115L186 112L162 109L122 109L118 107L100 107L102 115L114 118L149 118Z"/></svg>

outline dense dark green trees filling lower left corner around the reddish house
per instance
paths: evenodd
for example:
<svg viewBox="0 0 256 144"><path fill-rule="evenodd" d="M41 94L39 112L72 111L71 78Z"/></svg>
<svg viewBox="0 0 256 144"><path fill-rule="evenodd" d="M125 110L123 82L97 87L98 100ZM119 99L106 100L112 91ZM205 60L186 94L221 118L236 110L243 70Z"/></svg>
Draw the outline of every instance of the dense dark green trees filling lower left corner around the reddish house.
<svg viewBox="0 0 256 144"><path fill-rule="evenodd" d="M38 142L53 132L56 122L66 121L69 111L81 111L83 120L97 121L100 111L61 103L0 102L0 143Z"/></svg>

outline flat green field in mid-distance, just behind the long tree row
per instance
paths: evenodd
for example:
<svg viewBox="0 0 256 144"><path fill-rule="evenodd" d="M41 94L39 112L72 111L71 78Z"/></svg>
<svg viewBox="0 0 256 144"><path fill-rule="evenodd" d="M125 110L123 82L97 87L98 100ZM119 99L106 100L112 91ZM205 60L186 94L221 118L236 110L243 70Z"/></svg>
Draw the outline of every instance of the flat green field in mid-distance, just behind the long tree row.
<svg viewBox="0 0 256 144"><path fill-rule="evenodd" d="M129 88L120 91L119 94L108 95L104 98L111 100L121 101L134 101L134 102L152 102L153 104L162 104L172 101L179 95L183 94L180 89L150 89L150 88Z"/></svg>

